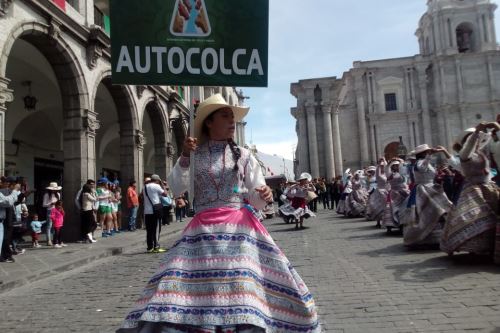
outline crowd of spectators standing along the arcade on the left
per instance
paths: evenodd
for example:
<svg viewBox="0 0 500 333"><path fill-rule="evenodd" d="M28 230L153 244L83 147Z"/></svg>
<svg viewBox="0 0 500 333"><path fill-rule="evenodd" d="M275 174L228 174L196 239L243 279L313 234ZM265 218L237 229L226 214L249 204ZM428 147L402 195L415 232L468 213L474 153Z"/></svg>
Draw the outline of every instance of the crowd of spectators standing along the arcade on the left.
<svg viewBox="0 0 500 333"><path fill-rule="evenodd" d="M0 179L0 262L15 262L14 255L24 254L30 247L42 247L41 239L48 247L63 248L65 210L62 202L62 187L50 182L41 196L41 208L26 204L35 192L28 190L23 177L1 177ZM96 243L96 232L107 238L122 231L134 232L144 226L148 252L164 252L159 245L162 225L168 225L175 216L182 222L189 208L188 194L177 197L169 191L166 181L158 175L144 180L144 189L138 193L137 182L130 181L126 195L118 180L107 177L87 180L75 196L74 204L80 213L81 243ZM122 202L127 209L122 210ZM122 228L122 211L127 220ZM28 245L27 245L28 243Z"/></svg>

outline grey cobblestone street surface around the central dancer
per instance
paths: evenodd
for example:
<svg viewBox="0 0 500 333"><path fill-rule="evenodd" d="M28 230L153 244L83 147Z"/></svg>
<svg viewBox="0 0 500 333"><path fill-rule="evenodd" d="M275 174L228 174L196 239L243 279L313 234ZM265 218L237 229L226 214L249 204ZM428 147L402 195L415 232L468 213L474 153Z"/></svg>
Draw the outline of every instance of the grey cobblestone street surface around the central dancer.
<svg viewBox="0 0 500 333"><path fill-rule="evenodd" d="M401 236L332 211L300 231L265 224L311 289L325 332L500 332L500 267L484 258L410 252ZM0 332L114 332L160 256L131 249L0 294Z"/></svg>

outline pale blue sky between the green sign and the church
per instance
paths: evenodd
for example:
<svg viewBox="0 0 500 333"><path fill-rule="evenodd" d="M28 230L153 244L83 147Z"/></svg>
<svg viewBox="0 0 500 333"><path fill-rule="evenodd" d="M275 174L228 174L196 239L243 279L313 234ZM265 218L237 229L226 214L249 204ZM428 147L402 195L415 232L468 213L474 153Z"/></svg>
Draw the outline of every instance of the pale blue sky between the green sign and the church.
<svg viewBox="0 0 500 333"><path fill-rule="evenodd" d="M500 0L491 1L499 4ZM267 154L293 158L297 143L290 84L337 76L356 60L418 54L415 36L427 0L270 0L267 88L243 88L246 141ZM500 16L495 15L500 36Z"/></svg>

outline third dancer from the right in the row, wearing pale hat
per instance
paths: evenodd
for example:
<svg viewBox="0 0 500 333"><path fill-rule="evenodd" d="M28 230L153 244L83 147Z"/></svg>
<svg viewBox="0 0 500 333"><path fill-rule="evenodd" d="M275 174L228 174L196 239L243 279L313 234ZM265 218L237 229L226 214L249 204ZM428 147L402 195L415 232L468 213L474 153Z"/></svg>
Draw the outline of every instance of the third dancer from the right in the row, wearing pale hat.
<svg viewBox="0 0 500 333"><path fill-rule="evenodd" d="M382 226L387 229L387 232L391 232L393 228L401 229L399 212L405 207L405 200L410 194L407 179L400 172L403 163L404 161L400 158L393 158L389 162L387 182L390 190L382 220Z"/></svg>

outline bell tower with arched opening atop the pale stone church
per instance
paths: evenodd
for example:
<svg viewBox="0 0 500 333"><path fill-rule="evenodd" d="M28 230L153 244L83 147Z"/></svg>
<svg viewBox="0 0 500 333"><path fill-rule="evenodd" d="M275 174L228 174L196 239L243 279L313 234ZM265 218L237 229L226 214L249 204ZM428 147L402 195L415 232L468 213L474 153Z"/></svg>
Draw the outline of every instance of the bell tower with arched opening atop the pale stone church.
<svg viewBox="0 0 500 333"><path fill-rule="evenodd" d="M427 0L427 12L415 35L423 56L452 55L497 49L490 0Z"/></svg>

